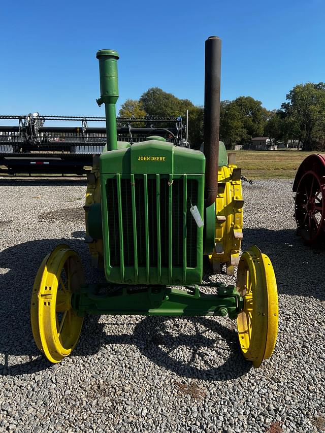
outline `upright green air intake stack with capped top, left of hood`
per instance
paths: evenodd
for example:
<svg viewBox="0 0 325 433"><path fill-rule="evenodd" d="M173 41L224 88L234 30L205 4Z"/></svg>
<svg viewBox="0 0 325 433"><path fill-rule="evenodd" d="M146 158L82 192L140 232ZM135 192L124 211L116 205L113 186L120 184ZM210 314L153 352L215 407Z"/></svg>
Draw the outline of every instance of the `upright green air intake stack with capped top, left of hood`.
<svg viewBox="0 0 325 433"><path fill-rule="evenodd" d="M101 97L96 99L99 106L105 104L106 135L108 150L117 149L116 109L118 99L117 60L114 50L100 50L96 57L100 65Z"/></svg>

